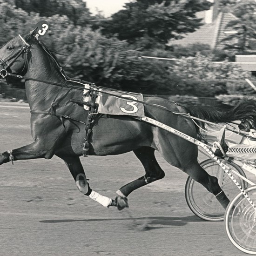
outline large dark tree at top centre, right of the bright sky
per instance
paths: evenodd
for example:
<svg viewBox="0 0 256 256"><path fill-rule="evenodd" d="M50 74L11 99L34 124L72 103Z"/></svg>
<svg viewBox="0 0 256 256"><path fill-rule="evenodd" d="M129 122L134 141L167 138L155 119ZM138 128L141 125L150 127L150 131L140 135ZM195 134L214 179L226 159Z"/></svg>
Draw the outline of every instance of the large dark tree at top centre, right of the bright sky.
<svg viewBox="0 0 256 256"><path fill-rule="evenodd" d="M102 33L143 48L164 45L200 27L196 13L210 6L208 0L136 0L102 21Z"/></svg>

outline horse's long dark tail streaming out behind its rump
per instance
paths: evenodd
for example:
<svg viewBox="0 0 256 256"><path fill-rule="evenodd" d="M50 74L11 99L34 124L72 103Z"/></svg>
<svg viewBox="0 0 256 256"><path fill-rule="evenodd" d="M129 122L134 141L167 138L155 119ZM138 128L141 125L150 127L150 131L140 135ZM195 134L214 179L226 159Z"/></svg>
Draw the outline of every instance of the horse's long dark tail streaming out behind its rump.
<svg viewBox="0 0 256 256"><path fill-rule="evenodd" d="M243 98L236 107L230 108L214 106L186 106L185 108L191 116L213 123L246 120L256 124L256 101L252 99ZM196 122L204 128L204 122Z"/></svg>

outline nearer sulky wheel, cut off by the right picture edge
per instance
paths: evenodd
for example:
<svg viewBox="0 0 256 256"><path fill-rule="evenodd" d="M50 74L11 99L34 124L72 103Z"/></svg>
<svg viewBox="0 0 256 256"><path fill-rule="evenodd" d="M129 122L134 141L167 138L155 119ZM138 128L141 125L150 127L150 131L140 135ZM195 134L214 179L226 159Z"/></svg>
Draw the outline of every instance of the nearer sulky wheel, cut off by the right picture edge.
<svg viewBox="0 0 256 256"><path fill-rule="evenodd" d="M256 203L256 186L245 191ZM256 255L256 209L239 193L229 203L224 218L230 241L241 251Z"/></svg>

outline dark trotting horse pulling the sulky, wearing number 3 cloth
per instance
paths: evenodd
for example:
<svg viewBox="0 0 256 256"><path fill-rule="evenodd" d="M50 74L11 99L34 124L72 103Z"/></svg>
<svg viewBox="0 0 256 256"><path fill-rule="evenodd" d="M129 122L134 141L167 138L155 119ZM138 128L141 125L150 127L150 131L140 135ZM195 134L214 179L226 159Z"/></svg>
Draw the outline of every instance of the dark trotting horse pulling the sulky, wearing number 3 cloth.
<svg viewBox="0 0 256 256"><path fill-rule="evenodd" d="M68 81L65 73L60 70L56 58L35 37L35 33L34 31L19 35L0 48L3 66L0 74L25 76L27 100L32 112L31 133L34 139L29 145L1 153L0 165L23 159L50 159L57 155L67 164L81 193L105 207L117 206L118 209L123 209L128 207L127 196L132 191L164 177L164 171L155 159L154 152L158 150L169 164L180 168L195 181L200 182L216 196L224 208L227 207L229 199L222 192L217 178L207 174L197 162L196 145L130 116L96 115L93 132L90 135L89 155L118 155L133 151L144 166L145 175L121 187L115 200L92 190L79 159L82 155L84 123L87 121L86 111L70 102L70 99L80 99L81 91L58 86L72 86L74 83ZM53 101L55 104L51 115ZM144 106L145 116L191 137L197 137L194 122L175 114L188 113L188 109L159 97L144 97L144 101L147 103ZM162 106L169 111L150 104ZM255 101L249 101L248 104L251 107L249 110L256 109ZM234 121L243 117L255 123L256 113L244 111L248 104L244 101L242 105L226 112L214 108L205 111L203 108L191 108L191 114L214 122Z"/></svg>

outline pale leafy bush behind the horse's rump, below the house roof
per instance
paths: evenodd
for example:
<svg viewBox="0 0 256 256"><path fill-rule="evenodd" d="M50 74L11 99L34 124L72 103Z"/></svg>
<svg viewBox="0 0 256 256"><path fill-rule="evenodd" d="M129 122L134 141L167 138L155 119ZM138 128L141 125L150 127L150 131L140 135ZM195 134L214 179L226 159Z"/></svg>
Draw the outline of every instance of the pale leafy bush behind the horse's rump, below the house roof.
<svg viewBox="0 0 256 256"><path fill-rule="evenodd" d="M182 57L170 67L173 74L179 74L174 89L177 94L190 94L201 97L213 97L217 94L227 94L227 83L250 77L249 72L239 66L223 61L214 63L211 56L196 54L195 57Z"/></svg>

